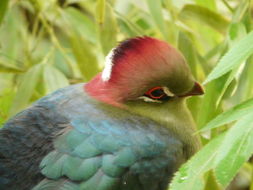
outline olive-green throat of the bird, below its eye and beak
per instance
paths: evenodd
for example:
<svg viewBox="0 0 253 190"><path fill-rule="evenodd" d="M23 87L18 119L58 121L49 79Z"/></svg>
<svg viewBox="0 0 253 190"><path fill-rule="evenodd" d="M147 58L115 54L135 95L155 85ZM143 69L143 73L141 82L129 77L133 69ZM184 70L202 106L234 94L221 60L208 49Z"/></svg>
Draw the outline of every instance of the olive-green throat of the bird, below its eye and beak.
<svg viewBox="0 0 253 190"><path fill-rule="evenodd" d="M184 98L163 105L153 104L152 109L150 104L147 105L145 102L129 102L128 109L162 124L174 133L185 145L189 146L187 157L200 149L200 139L198 135L195 135L197 129Z"/></svg>

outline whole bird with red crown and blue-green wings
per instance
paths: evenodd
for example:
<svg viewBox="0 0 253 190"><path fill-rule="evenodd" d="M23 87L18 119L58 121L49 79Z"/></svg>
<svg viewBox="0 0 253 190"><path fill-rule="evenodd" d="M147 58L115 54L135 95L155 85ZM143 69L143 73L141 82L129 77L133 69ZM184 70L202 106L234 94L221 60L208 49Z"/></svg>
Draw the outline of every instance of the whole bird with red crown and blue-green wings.
<svg viewBox="0 0 253 190"><path fill-rule="evenodd" d="M201 147L186 98L203 93L172 45L126 39L89 82L58 89L6 122L0 189L166 190Z"/></svg>

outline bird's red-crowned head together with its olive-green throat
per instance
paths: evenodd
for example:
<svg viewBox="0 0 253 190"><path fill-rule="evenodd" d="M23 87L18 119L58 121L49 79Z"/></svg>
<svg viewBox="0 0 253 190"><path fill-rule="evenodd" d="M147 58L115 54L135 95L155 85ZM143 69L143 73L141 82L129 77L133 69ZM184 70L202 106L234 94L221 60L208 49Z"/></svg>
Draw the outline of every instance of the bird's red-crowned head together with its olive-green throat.
<svg viewBox="0 0 253 190"><path fill-rule="evenodd" d="M199 138L192 136L196 129L184 99L203 94L203 89L183 55L164 41L137 37L120 43L85 91L100 102L169 128L188 147L187 157L200 147Z"/></svg>

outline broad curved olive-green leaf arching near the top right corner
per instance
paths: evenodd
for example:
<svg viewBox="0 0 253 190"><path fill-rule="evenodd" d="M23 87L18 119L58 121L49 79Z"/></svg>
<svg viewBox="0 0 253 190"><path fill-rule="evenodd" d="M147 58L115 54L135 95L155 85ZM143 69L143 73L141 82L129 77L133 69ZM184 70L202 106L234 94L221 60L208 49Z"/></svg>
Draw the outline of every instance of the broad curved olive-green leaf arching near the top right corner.
<svg viewBox="0 0 253 190"><path fill-rule="evenodd" d="M222 34L226 32L229 24L229 22L220 14L198 5L185 5L179 14L179 18L182 21L196 20L201 24L212 27L214 30L217 30Z"/></svg>

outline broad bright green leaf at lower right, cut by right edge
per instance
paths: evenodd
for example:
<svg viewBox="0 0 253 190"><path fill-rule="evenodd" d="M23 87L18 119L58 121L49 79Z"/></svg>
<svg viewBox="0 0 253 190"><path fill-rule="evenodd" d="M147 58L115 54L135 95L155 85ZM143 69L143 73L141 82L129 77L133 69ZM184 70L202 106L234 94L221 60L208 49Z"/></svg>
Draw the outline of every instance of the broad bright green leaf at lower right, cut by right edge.
<svg viewBox="0 0 253 190"><path fill-rule="evenodd" d="M238 121L226 134L215 163L218 182L226 187L253 153L253 113Z"/></svg>

